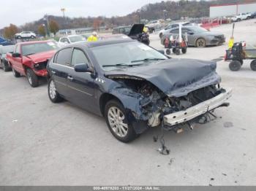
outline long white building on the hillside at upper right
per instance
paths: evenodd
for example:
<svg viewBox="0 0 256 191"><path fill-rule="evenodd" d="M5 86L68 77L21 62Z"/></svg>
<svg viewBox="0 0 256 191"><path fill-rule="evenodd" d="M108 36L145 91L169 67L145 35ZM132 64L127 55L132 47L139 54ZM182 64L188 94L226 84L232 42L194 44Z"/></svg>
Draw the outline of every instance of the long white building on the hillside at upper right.
<svg viewBox="0 0 256 191"><path fill-rule="evenodd" d="M210 7L210 17L224 17L246 12L256 12L256 3L222 4Z"/></svg>

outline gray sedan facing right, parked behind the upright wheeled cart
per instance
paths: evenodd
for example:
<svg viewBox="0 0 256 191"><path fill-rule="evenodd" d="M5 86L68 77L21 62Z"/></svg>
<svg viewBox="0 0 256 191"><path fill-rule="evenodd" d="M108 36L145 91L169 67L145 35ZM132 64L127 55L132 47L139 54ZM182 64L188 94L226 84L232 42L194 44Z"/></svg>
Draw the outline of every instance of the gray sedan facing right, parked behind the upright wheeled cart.
<svg viewBox="0 0 256 191"><path fill-rule="evenodd" d="M199 26L183 26L182 35L187 33L188 45L195 47L206 47L210 45L219 45L225 42L225 36L221 33L207 31ZM165 44L165 39L170 36L178 36L178 28L172 28L165 31L161 38L161 44Z"/></svg>

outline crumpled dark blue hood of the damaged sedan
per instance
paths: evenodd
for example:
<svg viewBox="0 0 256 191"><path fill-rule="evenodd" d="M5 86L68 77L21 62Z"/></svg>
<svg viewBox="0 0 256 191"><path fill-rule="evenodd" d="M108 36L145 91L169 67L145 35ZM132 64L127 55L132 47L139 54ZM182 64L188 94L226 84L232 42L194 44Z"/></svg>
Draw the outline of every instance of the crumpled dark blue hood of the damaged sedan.
<svg viewBox="0 0 256 191"><path fill-rule="evenodd" d="M169 59L131 68L105 71L110 79L146 79L168 96L180 97L220 82L216 62Z"/></svg>

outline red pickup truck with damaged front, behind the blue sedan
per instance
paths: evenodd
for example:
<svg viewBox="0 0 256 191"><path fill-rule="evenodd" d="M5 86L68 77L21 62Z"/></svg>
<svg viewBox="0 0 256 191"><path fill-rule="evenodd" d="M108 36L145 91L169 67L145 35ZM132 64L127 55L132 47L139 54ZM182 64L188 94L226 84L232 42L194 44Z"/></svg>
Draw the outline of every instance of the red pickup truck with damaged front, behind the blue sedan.
<svg viewBox="0 0 256 191"><path fill-rule="evenodd" d="M47 77L46 65L58 48L52 41L20 42L7 54L7 61L15 77L24 75L31 87L37 87L38 78Z"/></svg>

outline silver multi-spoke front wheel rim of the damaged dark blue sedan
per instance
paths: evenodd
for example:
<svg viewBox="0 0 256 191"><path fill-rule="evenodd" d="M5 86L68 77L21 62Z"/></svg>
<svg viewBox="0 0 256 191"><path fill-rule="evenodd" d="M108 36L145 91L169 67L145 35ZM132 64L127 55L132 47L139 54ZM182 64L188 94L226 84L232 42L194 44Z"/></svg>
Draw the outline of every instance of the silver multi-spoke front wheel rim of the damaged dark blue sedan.
<svg viewBox="0 0 256 191"><path fill-rule="evenodd" d="M127 136L128 125L124 122L124 114L116 106L112 106L108 109L108 122L110 128L117 136Z"/></svg>

